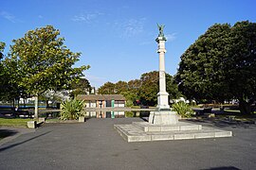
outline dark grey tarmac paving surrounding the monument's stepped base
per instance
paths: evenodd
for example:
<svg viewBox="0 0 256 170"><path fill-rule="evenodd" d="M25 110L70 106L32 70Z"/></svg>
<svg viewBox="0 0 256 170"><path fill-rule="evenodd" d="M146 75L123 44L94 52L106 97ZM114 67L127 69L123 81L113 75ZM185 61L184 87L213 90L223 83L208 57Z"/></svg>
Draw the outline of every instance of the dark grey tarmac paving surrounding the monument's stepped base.
<svg viewBox="0 0 256 170"><path fill-rule="evenodd" d="M256 167L256 125L193 120L188 122L231 130L233 137L139 143L127 143L114 129L114 125L137 121L143 120L89 119L85 123L45 124L1 144L0 169L246 170Z"/></svg>

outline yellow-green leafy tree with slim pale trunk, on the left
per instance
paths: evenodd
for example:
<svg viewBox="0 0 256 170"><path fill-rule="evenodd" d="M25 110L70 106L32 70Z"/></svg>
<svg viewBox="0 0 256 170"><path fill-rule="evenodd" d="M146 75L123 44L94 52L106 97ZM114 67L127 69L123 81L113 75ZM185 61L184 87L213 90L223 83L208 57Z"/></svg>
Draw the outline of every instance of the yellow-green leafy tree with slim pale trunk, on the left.
<svg viewBox="0 0 256 170"><path fill-rule="evenodd" d="M29 30L24 38L13 40L9 63L16 64L16 82L35 96L35 117L38 117L38 95L46 90L68 89L89 66L74 68L81 53L64 46L64 38L53 26Z"/></svg>

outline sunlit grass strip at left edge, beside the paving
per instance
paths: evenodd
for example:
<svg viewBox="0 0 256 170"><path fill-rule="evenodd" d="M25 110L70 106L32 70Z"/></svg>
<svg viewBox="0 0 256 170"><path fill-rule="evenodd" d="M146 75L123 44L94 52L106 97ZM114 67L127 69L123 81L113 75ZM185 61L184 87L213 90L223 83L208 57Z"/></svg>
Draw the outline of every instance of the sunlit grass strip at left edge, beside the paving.
<svg viewBox="0 0 256 170"><path fill-rule="evenodd" d="M0 118L1 127L27 127L27 122L33 119L24 118Z"/></svg>

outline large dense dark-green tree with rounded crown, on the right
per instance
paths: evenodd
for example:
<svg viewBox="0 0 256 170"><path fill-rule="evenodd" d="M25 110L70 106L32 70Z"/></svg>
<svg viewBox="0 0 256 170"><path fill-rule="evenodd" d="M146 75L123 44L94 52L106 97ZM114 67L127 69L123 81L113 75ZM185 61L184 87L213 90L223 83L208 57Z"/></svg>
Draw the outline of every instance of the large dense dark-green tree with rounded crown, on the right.
<svg viewBox="0 0 256 170"><path fill-rule="evenodd" d="M181 56L175 80L189 98L239 99L249 113L256 97L256 24L216 24Z"/></svg>

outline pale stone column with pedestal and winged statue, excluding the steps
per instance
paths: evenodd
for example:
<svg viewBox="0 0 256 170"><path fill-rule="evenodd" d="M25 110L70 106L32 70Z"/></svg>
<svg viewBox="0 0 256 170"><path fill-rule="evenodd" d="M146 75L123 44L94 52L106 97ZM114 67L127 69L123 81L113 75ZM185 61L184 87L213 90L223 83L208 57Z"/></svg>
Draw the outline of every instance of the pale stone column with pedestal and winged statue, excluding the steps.
<svg viewBox="0 0 256 170"><path fill-rule="evenodd" d="M159 54L159 93L157 93L157 106L155 111L150 112L149 123L155 125L174 125L178 123L175 111L169 106L169 93L166 92L165 60L166 38L163 34L164 26L158 26L159 34L155 41L158 43L157 53Z"/></svg>

